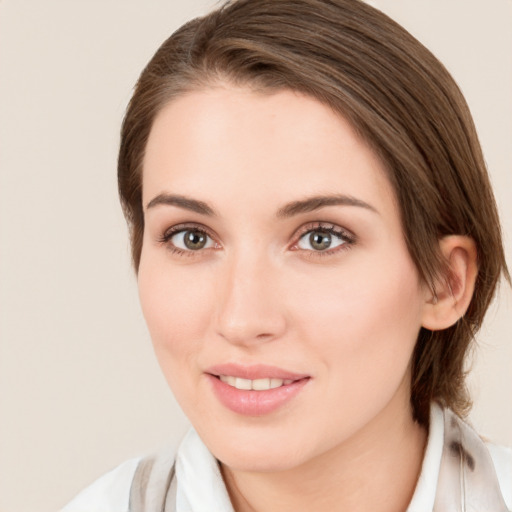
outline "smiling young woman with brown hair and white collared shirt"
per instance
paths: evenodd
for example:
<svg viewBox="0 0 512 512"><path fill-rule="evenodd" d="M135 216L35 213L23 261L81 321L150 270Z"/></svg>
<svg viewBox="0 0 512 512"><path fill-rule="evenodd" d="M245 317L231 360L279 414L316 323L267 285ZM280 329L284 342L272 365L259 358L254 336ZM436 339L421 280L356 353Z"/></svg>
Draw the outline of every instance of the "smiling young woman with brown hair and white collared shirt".
<svg viewBox="0 0 512 512"><path fill-rule="evenodd" d="M194 430L65 510L512 509L461 418L508 277L443 66L358 0L239 0L173 34L119 188L143 312Z"/></svg>

